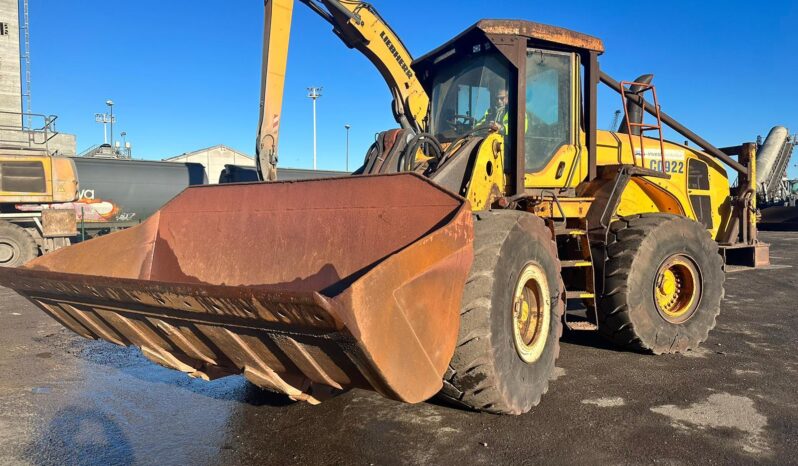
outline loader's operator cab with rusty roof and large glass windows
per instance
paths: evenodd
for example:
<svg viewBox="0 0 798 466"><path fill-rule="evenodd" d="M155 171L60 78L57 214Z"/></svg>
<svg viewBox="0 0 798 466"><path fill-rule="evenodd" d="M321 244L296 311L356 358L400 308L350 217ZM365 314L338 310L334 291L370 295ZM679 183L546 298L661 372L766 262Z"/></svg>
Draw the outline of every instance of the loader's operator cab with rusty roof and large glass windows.
<svg viewBox="0 0 798 466"><path fill-rule="evenodd" d="M587 157L576 157L585 132L580 64L603 50L563 28L480 21L413 64L431 97L430 133L444 146L502 134L515 192L578 182L587 175Z"/></svg>

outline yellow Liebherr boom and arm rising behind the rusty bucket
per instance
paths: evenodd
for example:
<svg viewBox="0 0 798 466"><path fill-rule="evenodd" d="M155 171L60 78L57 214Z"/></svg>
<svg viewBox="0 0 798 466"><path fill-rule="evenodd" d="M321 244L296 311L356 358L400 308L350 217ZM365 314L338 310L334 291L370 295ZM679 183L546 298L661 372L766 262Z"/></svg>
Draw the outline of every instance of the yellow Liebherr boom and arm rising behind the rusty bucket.
<svg viewBox="0 0 798 466"><path fill-rule="evenodd" d="M333 26L347 47L357 49L379 70L393 95L393 114L402 128L422 133L429 97L402 41L368 3L349 0L299 0ZM277 140L294 0L265 0L263 74L257 139L261 179L276 177Z"/></svg>

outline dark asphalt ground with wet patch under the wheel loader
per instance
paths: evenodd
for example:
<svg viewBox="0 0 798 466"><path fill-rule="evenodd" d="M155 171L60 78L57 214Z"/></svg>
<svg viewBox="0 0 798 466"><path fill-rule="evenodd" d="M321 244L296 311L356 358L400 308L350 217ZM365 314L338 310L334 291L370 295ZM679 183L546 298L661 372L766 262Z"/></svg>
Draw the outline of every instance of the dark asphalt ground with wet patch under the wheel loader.
<svg viewBox="0 0 798 466"><path fill-rule="evenodd" d="M523 416L192 380L0 289L0 464L798 464L798 233L762 237L776 267L728 275L702 348L650 356L566 334L557 380Z"/></svg>

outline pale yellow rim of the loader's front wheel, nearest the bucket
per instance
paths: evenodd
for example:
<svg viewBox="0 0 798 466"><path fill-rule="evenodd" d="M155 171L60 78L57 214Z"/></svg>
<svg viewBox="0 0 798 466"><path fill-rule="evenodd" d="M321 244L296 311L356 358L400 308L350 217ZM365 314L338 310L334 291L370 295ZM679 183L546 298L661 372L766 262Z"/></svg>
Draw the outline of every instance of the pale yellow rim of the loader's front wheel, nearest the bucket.
<svg viewBox="0 0 798 466"><path fill-rule="evenodd" d="M518 356L526 363L540 359L551 324L549 283L543 269L533 263L521 271L513 294L513 339Z"/></svg>

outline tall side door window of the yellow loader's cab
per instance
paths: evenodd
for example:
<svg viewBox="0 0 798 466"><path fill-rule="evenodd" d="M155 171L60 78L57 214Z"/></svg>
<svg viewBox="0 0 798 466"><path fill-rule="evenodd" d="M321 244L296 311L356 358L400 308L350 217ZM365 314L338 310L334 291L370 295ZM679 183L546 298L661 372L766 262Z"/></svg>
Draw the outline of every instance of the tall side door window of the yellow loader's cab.
<svg viewBox="0 0 798 466"><path fill-rule="evenodd" d="M526 171L542 170L572 144L573 55L529 49L526 61Z"/></svg>

